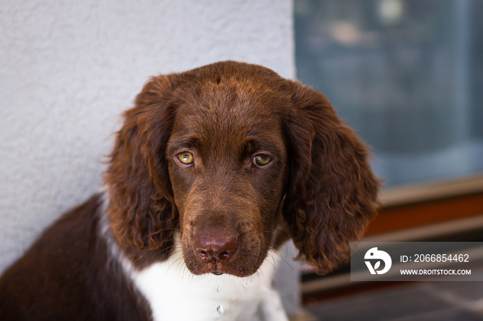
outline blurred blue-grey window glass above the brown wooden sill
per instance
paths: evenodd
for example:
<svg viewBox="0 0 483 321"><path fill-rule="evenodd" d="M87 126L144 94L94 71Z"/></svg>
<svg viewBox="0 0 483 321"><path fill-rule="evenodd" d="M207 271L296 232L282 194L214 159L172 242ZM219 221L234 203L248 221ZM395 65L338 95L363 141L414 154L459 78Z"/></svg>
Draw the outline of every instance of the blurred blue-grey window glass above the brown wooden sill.
<svg viewBox="0 0 483 321"><path fill-rule="evenodd" d="M483 1L295 0L297 78L386 186L483 172Z"/></svg>

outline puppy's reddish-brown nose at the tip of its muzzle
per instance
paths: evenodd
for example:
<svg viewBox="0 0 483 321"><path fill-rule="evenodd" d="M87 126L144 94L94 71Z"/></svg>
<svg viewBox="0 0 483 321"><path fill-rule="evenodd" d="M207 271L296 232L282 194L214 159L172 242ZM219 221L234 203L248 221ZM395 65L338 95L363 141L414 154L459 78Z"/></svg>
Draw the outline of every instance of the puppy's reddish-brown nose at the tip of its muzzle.
<svg viewBox="0 0 483 321"><path fill-rule="evenodd" d="M237 236L223 232L195 234L193 241L199 257L206 262L227 260L238 248Z"/></svg>

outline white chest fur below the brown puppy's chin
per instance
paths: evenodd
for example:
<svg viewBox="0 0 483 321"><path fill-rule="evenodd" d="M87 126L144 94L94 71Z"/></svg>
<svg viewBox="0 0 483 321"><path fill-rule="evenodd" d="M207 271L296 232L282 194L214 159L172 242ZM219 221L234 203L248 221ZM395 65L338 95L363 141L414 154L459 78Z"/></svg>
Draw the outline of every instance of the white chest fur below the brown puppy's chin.
<svg viewBox="0 0 483 321"><path fill-rule="evenodd" d="M184 265L181 251L173 253L164 262L131 273L150 303L155 321L287 320L279 294L271 285L276 253L269 253L257 273L247 278L195 276Z"/></svg>

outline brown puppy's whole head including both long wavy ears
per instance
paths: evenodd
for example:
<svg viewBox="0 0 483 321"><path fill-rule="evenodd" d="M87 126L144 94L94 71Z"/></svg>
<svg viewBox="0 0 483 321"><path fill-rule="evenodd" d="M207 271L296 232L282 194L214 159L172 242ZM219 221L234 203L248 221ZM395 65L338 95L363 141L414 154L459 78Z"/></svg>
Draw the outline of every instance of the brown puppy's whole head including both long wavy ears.
<svg viewBox="0 0 483 321"><path fill-rule="evenodd" d="M325 96L266 68L152 78L125 118L104 181L112 231L139 267L181 230L195 274L249 276L288 237L327 273L375 215L364 144Z"/></svg>

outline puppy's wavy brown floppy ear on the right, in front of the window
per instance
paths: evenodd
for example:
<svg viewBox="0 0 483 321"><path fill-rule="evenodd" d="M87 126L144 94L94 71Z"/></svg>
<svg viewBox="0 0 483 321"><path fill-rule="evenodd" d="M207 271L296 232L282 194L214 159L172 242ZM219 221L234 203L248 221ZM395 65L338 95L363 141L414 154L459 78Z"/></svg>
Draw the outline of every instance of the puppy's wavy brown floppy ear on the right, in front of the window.
<svg viewBox="0 0 483 321"><path fill-rule="evenodd" d="M290 235L317 273L348 260L375 216L377 185L366 146L342 124L326 97L291 83L286 130L290 180L284 218Z"/></svg>

